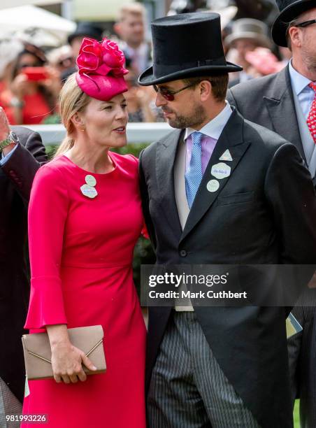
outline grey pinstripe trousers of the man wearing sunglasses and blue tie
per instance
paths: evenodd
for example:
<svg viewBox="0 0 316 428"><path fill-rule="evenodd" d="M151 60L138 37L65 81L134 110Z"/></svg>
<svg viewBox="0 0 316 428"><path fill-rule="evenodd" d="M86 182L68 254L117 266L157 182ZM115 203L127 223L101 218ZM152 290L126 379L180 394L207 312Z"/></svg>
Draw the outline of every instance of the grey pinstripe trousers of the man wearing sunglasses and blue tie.
<svg viewBox="0 0 316 428"><path fill-rule="evenodd" d="M259 428L217 364L194 312L174 312L148 393L150 428Z"/></svg>

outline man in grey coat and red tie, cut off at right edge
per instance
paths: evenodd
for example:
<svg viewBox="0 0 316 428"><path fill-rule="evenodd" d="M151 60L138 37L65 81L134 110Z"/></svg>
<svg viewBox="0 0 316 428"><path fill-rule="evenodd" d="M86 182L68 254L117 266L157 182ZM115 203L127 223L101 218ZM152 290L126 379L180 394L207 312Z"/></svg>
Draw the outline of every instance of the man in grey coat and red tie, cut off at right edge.
<svg viewBox="0 0 316 428"><path fill-rule="evenodd" d="M275 43L289 46L292 60L279 73L231 88L227 99L248 120L293 143L316 187L316 7L311 0L278 0ZM315 128L313 128L315 127ZM301 220L299 220L301 221ZM314 286L316 280L314 277ZM312 285L312 284L311 284ZM301 427L316 427L316 290L307 291L292 313L303 331L289 339L293 398L300 401Z"/></svg>

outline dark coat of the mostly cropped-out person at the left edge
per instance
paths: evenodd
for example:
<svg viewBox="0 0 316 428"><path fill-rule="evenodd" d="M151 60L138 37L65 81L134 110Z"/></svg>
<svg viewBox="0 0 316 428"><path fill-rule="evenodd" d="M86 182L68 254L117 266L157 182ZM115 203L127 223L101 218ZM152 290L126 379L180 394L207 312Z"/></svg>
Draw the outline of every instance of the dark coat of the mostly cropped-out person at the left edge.
<svg viewBox="0 0 316 428"><path fill-rule="evenodd" d="M0 166L0 377L21 402L25 371L23 326L29 305L27 205L39 166L47 161L38 133L12 127L20 139L8 162Z"/></svg>

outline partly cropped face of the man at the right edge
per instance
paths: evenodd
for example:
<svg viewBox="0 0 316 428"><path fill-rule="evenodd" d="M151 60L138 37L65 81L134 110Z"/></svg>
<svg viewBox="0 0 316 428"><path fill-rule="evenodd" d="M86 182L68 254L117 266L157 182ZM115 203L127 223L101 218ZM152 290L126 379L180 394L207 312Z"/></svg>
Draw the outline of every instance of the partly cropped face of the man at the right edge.
<svg viewBox="0 0 316 428"><path fill-rule="evenodd" d="M303 13L297 22L316 20L316 8ZM310 71L316 73L316 23L308 27L299 28L299 38L301 42L301 56Z"/></svg>

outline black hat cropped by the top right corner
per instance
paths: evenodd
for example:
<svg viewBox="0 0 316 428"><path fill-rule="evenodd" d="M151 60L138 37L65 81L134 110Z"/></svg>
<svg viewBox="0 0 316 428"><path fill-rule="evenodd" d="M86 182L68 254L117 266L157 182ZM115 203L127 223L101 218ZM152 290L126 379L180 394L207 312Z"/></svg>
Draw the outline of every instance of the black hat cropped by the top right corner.
<svg viewBox="0 0 316 428"><path fill-rule="evenodd" d="M275 0L280 10L272 27L272 38L274 43L279 46L287 47L287 27L289 22L293 21L307 12L307 10L316 8L315 0Z"/></svg>

